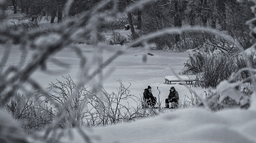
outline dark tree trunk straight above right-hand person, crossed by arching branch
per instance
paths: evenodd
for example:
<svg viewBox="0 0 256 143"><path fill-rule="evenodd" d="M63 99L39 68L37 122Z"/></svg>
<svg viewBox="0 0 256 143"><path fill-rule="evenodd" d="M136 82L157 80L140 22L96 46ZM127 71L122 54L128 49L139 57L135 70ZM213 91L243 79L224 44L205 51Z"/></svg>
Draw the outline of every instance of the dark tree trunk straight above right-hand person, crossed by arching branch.
<svg viewBox="0 0 256 143"><path fill-rule="evenodd" d="M175 27L181 27L182 26L182 20L181 20L181 14L180 14L180 7L178 4L178 0L173 1L174 2L174 9L175 9L175 14L174 14L174 26ZM175 35L175 42L179 42L181 40L181 37L179 34Z"/></svg>

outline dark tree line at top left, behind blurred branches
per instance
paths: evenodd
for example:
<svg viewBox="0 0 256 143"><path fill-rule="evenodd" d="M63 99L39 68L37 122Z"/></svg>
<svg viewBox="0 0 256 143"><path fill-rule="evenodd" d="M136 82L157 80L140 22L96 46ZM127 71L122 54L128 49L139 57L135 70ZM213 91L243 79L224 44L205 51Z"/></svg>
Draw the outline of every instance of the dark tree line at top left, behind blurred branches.
<svg viewBox="0 0 256 143"><path fill-rule="evenodd" d="M72 7L69 10L69 14L66 16L74 16L80 12L86 12L99 3L100 0L72 1ZM7 0L6 5L12 5L14 14L20 11L22 14L26 14L26 18L29 18L32 22L38 22L39 18L47 16L50 18L50 23L54 23L57 18L57 22L61 23L64 18L63 12L66 6L67 0Z"/></svg>

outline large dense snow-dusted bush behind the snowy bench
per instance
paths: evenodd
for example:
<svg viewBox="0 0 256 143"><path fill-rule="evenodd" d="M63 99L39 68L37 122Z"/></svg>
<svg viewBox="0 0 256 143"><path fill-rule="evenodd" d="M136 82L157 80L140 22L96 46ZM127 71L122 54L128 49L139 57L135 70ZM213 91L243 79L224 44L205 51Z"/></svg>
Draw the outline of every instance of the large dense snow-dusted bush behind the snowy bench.
<svg viewBox="0 0 256 143"><path fill-rule="evenodd" d="M256 68L255 53L250 53L247 61L253 69ZM189 54L189 60L184 63L184 69L180 71L180 74L196 74L196 86L216 88L219 82L227 80L231 74L244 68L246 68L246 60L241 54L228 55L196 51ZM244 70L236 80L244 80L247 77L249 77L249 71Z"/></svg>

